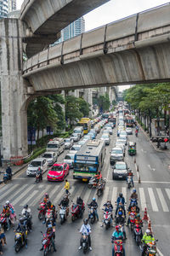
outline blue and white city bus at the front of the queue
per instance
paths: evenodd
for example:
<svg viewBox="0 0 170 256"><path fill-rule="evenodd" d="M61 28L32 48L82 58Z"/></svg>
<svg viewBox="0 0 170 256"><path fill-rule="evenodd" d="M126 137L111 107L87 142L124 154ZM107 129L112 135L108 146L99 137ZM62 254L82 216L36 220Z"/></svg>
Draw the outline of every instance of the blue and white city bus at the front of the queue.
<svg viewBox="0 0 170 256"><path fill-rule="evenodd" d="M73 178L88 181L102 171L105 160L105 141L89 140L75 154Z"/></svg>

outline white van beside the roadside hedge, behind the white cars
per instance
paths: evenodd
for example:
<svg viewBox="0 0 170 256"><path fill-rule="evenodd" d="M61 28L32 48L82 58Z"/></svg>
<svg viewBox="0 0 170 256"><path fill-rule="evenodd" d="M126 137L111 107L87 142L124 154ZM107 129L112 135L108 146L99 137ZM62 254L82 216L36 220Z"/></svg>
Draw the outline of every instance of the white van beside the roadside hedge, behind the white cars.
<svg viewBox="0 0 170 256"><path fill-rule="evenodd" d="M61 154L65 150L65 140L62 137L54 137L54 139L48 142L46 151L56 152L57 155Z"/></svg>

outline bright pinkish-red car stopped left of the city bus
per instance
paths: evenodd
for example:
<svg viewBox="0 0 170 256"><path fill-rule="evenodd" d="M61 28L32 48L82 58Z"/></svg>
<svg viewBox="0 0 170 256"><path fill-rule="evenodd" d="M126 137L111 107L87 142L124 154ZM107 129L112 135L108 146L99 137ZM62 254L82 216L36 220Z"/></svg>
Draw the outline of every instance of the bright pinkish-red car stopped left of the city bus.
<svg viewBox="0 0 170 256"><path fill-rule="evenodd" d="M63 181L69 174L69 165L54 164L48 171L48 181Z"/></svg>

